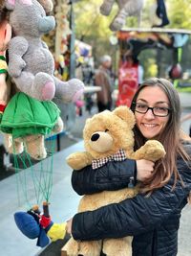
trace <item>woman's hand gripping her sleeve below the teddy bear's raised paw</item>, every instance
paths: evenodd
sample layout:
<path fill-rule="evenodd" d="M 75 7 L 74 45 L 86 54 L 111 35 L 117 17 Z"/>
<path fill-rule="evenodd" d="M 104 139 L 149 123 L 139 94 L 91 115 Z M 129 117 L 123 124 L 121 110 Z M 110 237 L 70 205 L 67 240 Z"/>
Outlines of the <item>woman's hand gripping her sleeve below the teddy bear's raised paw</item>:
<path fill-rule="evenodd" d="M 144 181 L 153 175 L 155 163 L 149 160 L 137 160 L 137 179 Z"/>

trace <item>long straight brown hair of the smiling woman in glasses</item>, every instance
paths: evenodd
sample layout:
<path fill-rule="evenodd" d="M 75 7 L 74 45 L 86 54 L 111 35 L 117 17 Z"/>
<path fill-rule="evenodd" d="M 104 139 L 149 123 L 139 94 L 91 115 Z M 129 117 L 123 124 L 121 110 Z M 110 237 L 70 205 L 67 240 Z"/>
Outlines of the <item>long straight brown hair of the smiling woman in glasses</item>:
<path fill-rule="evenodd" d="M 180 97 L 170 81 L 158 78 L 152 78 L 144 81 L 138 87 L 138 91 L 132 101 L 131 109 L 135 111 L 133 103 L 137 102 L 139 92 L 145 87 L 154 86 L 159 86 L 159 88 L 164 91 L 168 97 L 169 106 L 172 110 L 169 113 L 169 120 L 165 128 L 157 138 L 163 145 L 166 155 L 163 159 L 156 162 L 154 175 L 144 182 L 141 182 L 140 191 L 142 192 L 152 192 L 153 190 L 162 187 L 169 181 L 172 175 L 174 175 L 174 188 L 178 178 L 180 178 L 177 169 L 178 155 L 180 155 L 180 157 L 185 161 L 190 160 L 189 155 L 182 146 L 182 140 L 184 138 L 182 136 L 183 132 L 180 131 Z M 137 150 L 145 143 L 146 139 L 140 133 L 137 126 L 134 128 L 134 133 L 136 138 L 135 150 Z"/>

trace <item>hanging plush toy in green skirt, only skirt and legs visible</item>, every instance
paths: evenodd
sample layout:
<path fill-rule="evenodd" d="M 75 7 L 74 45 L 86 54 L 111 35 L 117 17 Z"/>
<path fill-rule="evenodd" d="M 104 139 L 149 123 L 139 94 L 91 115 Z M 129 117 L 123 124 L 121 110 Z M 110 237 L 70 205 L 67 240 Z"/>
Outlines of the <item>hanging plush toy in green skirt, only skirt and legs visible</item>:
<path fill-rule="evenodd" d="M 25 150 L 33 159 L 46 158 L 45 136 L 63 130 L 59 114 L 60 110 L 52 101 L 40 102 L 23 92 L 16 93 L 0 125 L 7 151 L 19 154 Z"/>

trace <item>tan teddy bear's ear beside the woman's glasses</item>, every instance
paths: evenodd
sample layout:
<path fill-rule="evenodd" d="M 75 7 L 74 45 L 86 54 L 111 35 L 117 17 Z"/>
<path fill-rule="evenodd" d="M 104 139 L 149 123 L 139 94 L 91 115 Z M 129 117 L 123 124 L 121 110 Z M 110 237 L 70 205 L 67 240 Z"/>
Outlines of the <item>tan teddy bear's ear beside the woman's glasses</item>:
<path fill-rule="evenodd" d="M 134 128 L 136 124 L 136 118 L 132 110 L 126 105 L 120 105 L 113 111 L 115 115 L 117 115 L 122 120 L 128 123 L 130 128 Z"/>

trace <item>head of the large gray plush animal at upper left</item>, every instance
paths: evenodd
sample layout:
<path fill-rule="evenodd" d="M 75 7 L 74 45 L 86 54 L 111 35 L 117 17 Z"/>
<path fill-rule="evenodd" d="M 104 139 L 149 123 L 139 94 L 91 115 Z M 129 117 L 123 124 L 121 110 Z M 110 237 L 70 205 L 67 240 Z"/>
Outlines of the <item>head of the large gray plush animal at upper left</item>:
<path fill-rule="evenodd" d="M 37 0 L 6 0 L 6 8 L 14 35 L 41 36 L 55 26 L 54 17 L 47 16 Z"/>

